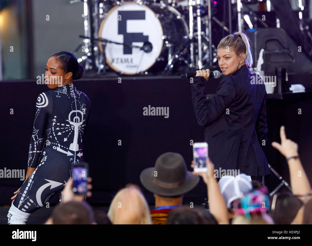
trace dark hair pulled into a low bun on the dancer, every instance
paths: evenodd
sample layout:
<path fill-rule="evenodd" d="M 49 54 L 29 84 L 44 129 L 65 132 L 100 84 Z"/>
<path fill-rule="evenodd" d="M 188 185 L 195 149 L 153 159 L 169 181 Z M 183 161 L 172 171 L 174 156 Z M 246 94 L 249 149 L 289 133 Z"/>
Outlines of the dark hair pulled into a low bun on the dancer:
<path fill-rule="evenodd" d="M 56 57 L 59 62 L 61 62 L 61 68 L 65 73 L 72 72 L 73 80 L 80 79 L 83 74 L 83 66 L 78 64 L 76 57 L 67 51 L 60 51 L 52 55 L 51 57 Z"/>

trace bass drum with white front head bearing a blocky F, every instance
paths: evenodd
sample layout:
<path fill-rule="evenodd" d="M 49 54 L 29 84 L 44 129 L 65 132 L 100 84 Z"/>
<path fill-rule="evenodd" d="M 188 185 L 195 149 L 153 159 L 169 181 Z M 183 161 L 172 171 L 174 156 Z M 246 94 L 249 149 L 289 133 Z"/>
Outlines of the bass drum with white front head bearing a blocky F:
<path fill-rule="evenodd" d="M 109 41 L 142 47 L 152 44 L 149 53 L 137 47 L 106 43 L 106 63 L 113 70 L 126 75 L 145 71 L 161 72 L 169 58 L 183 48 L 188 38 L 188 25 L 184 17 L 165 4 L 138 4 L 125 2 L 107 13 L 99 28 L 99 37 Z M 99 49 L 103 53 L 102 42 Z"/>

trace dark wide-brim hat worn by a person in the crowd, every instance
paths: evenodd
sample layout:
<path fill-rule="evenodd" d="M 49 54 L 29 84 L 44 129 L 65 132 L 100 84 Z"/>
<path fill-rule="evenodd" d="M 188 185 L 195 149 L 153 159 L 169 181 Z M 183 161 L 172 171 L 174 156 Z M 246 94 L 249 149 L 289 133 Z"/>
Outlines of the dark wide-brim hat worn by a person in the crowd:
<path fill-rule="evenodd" d="M 192 190 L 198 184 L 199 177 L 187 170 L 182 155 L 167 152 L 157 158 L 154 167 L 141 172 L 140 180 L 150 192 L 172 197 Z"/>

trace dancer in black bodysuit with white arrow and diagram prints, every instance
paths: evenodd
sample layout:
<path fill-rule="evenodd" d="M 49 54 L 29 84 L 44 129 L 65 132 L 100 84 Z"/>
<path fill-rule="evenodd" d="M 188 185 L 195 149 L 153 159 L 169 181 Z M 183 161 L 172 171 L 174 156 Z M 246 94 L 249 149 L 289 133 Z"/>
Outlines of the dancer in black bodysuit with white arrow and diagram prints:
<path fill-rule="evenodd" d="M 37 98 L 27 175 L 11 198 L 8 224 L 26 224 L 32 212 L 43 207 L 55 193 L 61 193 L 71 177 L 71 167 L 84 161 L 82 145 L 90 100 L 72 84 L 82 74 L 83 67 L 70 52 L 55 53 L 46 64 L 46 84 L 52 90 Z M 61 86 L 52 82 L 56 76 L 62 78 L 58 81 Z"/>

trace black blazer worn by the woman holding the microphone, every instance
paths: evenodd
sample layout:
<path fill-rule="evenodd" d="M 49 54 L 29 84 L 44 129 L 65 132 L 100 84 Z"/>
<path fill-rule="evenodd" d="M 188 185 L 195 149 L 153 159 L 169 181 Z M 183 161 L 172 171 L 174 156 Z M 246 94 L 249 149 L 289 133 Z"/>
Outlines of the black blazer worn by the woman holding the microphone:
<path fill-rule="evenodd" d="M 209 103 L 205 78 L 194 77 L 191 85 L 197 122 L 205 126 L 208 155 L 215 168 L 237 169 L 252 176 L 270 174 L 264 154 L 268 131 L 265 85 L 251 83 L 246 65 L 222 78 Z"/>

